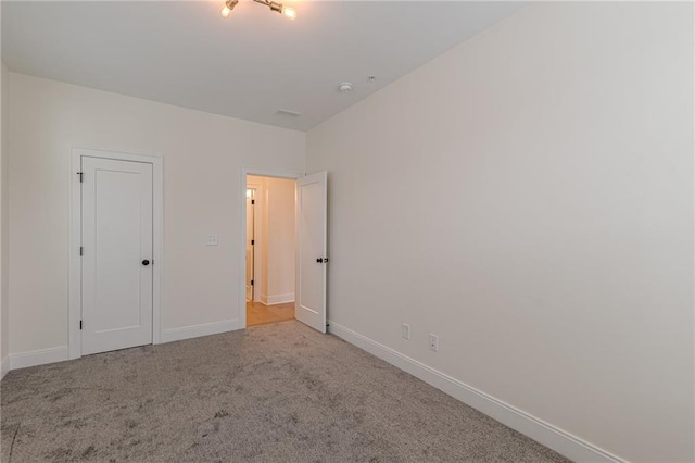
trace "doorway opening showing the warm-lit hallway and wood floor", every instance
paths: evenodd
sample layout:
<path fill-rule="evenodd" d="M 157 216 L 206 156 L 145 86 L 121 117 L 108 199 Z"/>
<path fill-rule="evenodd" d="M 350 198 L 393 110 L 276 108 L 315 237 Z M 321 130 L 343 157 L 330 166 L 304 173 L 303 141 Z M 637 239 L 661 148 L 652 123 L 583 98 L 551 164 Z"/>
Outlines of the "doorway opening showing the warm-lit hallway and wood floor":
<path fill-rule="evenodd" d="M 247 327 L 294 320 L 296 182 L 247 175 Z"/>

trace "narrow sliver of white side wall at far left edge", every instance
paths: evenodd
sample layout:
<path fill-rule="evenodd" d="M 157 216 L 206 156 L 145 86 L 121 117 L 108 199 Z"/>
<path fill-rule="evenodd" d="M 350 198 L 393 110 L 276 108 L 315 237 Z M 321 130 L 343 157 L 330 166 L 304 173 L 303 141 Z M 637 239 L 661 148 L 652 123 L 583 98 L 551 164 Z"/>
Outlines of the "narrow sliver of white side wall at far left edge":
<path fill-rule="evenodd" d="M 4 63 L 1 64 L 0 82 L 0 364 L 2 373 L 10 367 L 10 306 L 9 306 L 9 183 L 8 183 L 8 90 L 9 74 Z"/>

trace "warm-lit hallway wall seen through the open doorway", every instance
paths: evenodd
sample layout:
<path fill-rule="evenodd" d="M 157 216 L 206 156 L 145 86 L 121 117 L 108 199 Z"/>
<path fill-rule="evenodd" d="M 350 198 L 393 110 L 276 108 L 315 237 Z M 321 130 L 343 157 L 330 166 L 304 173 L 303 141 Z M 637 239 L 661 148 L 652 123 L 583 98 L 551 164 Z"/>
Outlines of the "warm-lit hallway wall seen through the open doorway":
<path fill-rule="evenodd" d="M 261 215 L 256 230 L 260 265 L 258 300 L 265 304 L 294 301 L 294 179 L 250 175 L 248 183 L 260 185 L 256 212 Z"/>

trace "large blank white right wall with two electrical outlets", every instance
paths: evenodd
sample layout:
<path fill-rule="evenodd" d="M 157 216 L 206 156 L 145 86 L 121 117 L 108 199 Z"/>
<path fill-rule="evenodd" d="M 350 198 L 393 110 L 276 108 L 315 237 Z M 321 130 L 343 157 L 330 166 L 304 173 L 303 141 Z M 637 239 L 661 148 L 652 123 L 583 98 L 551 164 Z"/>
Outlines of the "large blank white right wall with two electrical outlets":
<path fill-rule="evenodd" d="M 692 23 L 535 4 L 311 130 L 331 327 L 618 456 L 695 460 Z"/>

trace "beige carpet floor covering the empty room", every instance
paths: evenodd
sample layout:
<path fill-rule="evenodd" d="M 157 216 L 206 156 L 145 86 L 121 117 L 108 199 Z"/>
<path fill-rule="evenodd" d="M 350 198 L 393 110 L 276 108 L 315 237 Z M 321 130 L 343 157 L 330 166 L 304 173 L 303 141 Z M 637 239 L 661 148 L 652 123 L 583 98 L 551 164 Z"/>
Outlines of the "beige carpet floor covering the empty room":
<path fill-rule="evenodd" d="M 291 321 L 12 371 L 3 462 L 565 462 Z"/>

